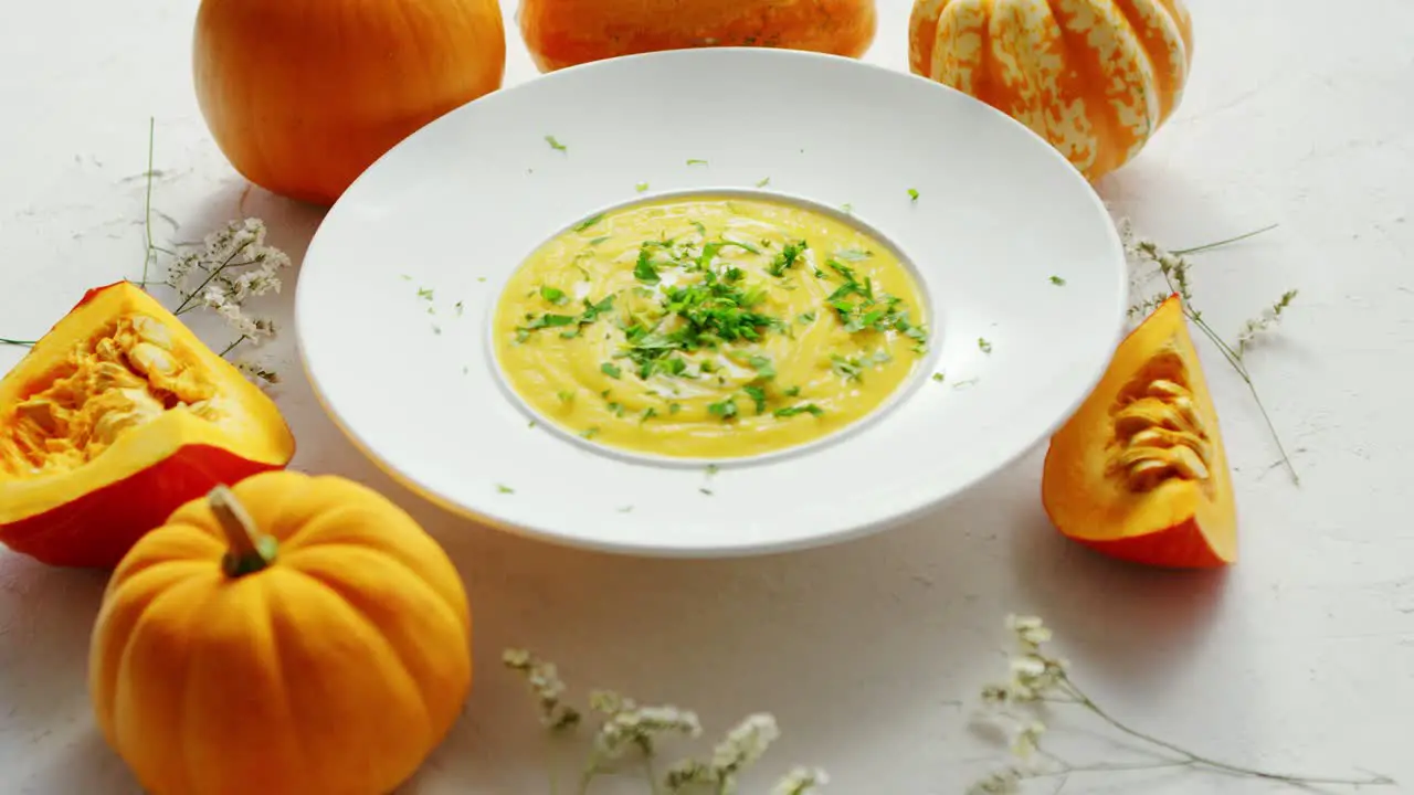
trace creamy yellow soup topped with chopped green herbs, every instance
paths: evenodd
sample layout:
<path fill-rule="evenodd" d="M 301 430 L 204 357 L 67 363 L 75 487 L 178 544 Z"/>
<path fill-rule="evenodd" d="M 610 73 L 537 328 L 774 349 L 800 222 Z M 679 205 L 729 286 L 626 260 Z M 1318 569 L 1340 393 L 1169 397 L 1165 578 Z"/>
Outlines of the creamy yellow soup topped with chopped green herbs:
<path fill-rule="evenodd" d="M 878 409 L 928 345 L 926 301 L 880 240 L 805 207 L 676 197 L 587 218 L 533 252 L 493 318 L 539 414 L 594 443 L 738 458 Z"/>

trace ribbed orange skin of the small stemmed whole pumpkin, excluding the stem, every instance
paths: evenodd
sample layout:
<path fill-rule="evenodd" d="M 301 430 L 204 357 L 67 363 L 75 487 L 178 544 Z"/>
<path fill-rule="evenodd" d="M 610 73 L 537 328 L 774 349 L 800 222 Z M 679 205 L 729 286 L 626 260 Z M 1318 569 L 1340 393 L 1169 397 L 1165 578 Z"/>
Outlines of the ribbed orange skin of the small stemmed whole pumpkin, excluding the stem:
<path fill-rule="evenodd" d="M 274 563 L 228 576 L 206 499 L 133 547 L 89 652 L 103 736 L 153 795 L 386 795 L 469 692 L 455 567 L 356 482 L 281 471 L 230 491 Z"/>

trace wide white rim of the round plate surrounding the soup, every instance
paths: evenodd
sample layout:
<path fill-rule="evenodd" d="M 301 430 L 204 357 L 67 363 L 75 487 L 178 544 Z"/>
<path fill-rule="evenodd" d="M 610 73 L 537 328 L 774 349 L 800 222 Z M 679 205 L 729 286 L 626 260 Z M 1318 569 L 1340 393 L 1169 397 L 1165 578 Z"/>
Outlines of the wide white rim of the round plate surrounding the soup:
<path fill-rule="evenodd" d="M 529 427 L 486 341 L 523 257 L 608 207 L 766 177 L 850 205 L 916 266 L 932 354 L 902 399 L 830 444 L 714 474 Z M 1103 204 L 1021 124 L 851 59 L 693 50 L 554 72 L 414 133 L 320 226 L 296 325 L 334 420 L 428 499 L 561 543 L 725 556 L 882 529 L 1024 454 L 1099 381 L 1126 303 Z"/>

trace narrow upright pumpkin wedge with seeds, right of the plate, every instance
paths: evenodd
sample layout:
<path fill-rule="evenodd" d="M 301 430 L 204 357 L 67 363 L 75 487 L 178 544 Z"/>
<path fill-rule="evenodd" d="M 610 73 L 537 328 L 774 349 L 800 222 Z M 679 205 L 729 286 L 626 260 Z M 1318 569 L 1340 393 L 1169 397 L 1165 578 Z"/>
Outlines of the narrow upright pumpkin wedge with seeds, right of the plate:
<path fill-rule="evenodd" d="M 1118 347 L 1051 439 L 1041 499 L 1065 536 L 1150 566 L 1237 559 L 1237 516 L 1217 412 L 1176 296 Z"/>

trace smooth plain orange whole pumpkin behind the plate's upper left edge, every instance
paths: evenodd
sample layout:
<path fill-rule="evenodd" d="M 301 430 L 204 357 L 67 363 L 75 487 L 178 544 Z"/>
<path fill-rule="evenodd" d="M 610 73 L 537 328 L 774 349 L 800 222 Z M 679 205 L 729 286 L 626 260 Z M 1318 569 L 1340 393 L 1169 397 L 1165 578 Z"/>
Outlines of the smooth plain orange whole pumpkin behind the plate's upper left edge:
<path fill-rule="evenodd" d="M 393 144 L 501 88 L 505 48 L 496 0 L 202 0 L 192 65 L 230 164 L 329 205 Z"/>

